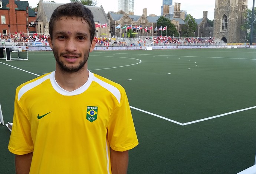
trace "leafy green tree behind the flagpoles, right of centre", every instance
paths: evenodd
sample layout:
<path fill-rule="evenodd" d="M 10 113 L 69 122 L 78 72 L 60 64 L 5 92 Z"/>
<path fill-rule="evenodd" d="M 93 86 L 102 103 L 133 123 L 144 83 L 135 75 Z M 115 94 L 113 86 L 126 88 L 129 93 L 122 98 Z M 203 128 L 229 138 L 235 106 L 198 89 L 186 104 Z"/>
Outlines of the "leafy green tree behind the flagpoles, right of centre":
<path fill-rule="evenodd" d="M 161 26 L 162 26 L 162 28 L 167 27 L 167 30 L 162 31 L 160 34 L 158 34 L 158 36 L 160 36 L 161 34 L 162 34 L 162 36 L 178 36 L 178 32 L 177 32 L 176 27 L 174 26 L 173 23 L 171 23 L 171 20 L 168 19 L 168 18 L 165 18 L 165 17 L 161 16 L 157 20 L 157 26 L 158 26 L 158 29 Z"/>

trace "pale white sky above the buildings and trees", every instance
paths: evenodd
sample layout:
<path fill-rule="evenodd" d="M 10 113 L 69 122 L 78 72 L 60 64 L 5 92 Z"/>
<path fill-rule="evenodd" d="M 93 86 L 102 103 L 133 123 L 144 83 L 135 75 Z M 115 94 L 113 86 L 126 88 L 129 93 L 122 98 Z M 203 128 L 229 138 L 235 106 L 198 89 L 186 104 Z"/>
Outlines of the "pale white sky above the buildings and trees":
<path fill-rule="evenodd" d="M 39 0 L 27 0 L 29 5 L 36 7 Z M 45 0 L 50 1 L 50 0 Z M 54 0 L 56 3 L 69 3 L 70 0 Z M 95 0 L 97 1 L 96 6 L 103 6 L 106 13 L 108 11 L 118 11 L 118 0 Z M 213 20 L 214 18 L 214 7 L 215 0 L 173 0 L 174 3 L 181 3 L 181 10 L 187 10 L 187 14 L 191 14 L 196 19 L 203 18 L 203 11 L 208 11 L 208 19 Z M 162 0 L 134 0 L 134 15 L 142 15 L 142 9 L 147 9 L 147 14 L 161 15 L 161 6 L 163 5 Z M 248 7 L 252 9 L 253 0 L 248 0 Z M 256 4 L 255 4 L 256 5 Z"/>

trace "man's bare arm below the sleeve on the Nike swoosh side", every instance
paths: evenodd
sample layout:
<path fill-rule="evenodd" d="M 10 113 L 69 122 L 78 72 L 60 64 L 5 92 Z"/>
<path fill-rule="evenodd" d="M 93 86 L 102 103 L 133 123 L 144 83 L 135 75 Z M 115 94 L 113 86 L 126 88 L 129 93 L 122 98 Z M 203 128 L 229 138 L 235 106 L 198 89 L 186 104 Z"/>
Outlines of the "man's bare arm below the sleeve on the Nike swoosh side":
<path fill-rule="evenodd" d="M 16 174 L 29 174 L 33 152 L 25 155 L 15 155 Z"/>

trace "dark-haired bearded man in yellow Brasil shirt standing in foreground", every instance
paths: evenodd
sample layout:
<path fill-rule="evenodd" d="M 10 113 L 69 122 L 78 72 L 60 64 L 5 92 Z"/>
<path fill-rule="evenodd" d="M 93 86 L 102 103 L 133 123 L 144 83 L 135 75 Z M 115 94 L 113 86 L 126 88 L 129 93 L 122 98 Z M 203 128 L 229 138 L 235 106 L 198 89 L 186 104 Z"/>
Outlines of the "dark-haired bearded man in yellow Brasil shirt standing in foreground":
<path fill-rule="evenodd" d="M 124 88 L 88 71 L 95 24 L 81 3 L 59 6 L 48 42 L 56 70 L 16 90 L 9 150 L 17 174 L 123 174 L 138 144 Z"/>

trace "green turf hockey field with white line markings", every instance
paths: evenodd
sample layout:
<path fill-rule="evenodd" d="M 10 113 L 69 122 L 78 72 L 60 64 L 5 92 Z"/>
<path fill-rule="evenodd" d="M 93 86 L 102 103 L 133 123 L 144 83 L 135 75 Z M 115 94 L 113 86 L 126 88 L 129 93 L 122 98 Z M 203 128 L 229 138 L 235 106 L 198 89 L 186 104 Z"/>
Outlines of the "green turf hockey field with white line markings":
<path fill-rule="evenodd" d="M 53 70 L 50 51 L 0 60 L 5 123 L 16 87 Z M 126 89 L 140 143 L 129 174 L 233 174 L 254 165 L 256 49 L 94 51 L 89 70 Z M 12 174 L 6 126 L 0 136 L 1 172 Z"/>

